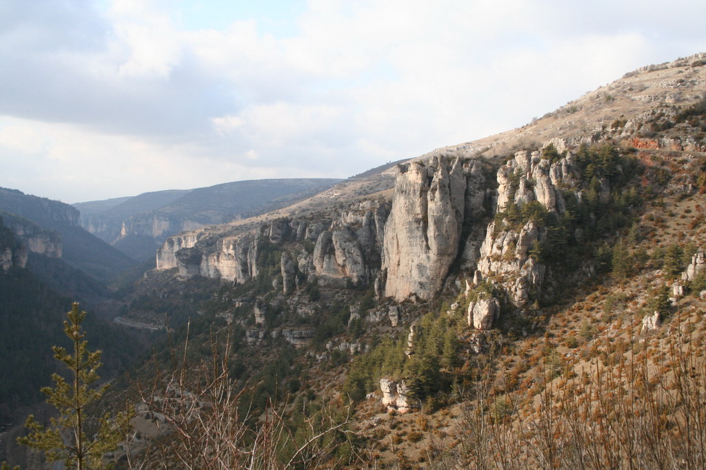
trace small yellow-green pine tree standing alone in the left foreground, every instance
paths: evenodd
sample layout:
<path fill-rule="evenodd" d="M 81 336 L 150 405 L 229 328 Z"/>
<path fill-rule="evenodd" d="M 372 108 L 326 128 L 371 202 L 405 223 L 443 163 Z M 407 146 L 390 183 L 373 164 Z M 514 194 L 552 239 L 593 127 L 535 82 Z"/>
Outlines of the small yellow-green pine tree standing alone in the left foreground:
<path fill-rule="evenodd" d="M 59 416 L 52 418 L 49 426 L 43 426 L 30 415 L 25 423 L 29 433 L 18 438 L 18 443 L 44 451 L 49 461 L 65 460 L 68 468 L 101 468 L 103 454 L 115 450 L 124 439 L 130 416 L 126 413 L 114 417 L 105 414 L 100 419 L 97 433 L 88 436 L 86 407 L 102 397 L 107 385 L 92 386 L 98 380 L 97 369 L 102 364 L 100 351 L 86 349 L 87 342 L 83 339 L 86 333 L 80 328 L 86 312 L 79 311 L 78 303 L 74 302 L 67 316 L 64 333 L 73 344 L 73 354 L 59 346 L 52 347 L 52 350 L 54 358 L 68 367 L 70 378 L 67 381 L 54 373 L 54 388 L 42 388 L 47 403 L 56 408 Z"/>

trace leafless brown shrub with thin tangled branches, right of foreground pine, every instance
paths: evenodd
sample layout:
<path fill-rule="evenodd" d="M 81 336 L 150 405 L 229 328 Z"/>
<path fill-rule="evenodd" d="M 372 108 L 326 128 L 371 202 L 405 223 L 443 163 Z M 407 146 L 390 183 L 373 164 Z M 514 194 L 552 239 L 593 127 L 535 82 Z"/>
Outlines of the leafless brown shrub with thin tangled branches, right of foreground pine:
<path fill-rule="evenodd" d="M 212 333 L 210 360 L 198 364 L 187 360 L 188 336 L 180 357 L 171 348 L 171 369 L 162 370 L 155 359 L 152 382 L 136 383 L 149 413 L 161 418 L 164 435 L 133 468 L 311 468 L 351 464 L 357 457 L 348 408 L 303 409 L 294 426 L 282 414 L 286 404 L 270 400 L 254 416 L 243 401 L 245 388 L 229 378 L 230 335 L 220 346 Z"/>

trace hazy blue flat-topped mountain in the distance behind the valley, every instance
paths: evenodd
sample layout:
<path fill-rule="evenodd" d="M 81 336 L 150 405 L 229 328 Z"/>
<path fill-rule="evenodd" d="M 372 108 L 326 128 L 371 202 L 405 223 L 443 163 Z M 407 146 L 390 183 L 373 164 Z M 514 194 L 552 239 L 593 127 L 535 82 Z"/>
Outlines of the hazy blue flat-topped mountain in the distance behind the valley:
<path fill-rule="evenodd" d="M 247 180 L 194 190 L 145 192 L 136 197 L 73 204 L 80 224 L 129 256 L 155 256 L 169 235 L 263 214 L 311 197 L 338 179 Z"/>

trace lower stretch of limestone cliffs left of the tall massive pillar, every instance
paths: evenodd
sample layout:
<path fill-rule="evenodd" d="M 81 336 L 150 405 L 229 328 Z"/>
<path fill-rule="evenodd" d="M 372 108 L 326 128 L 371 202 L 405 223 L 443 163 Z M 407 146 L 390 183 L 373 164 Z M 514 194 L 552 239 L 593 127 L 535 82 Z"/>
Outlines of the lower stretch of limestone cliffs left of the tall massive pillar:
<path fill-rule="evenodd" d="M 258 230 L 216 237 L 208 230 L 174 235 L 157 251 L 157 268 L 179 268 L 182 276 L 206 276 L 245 283 L 258 276 L 258 249 L 269 243 L 283 250 L 282 289 L 296 290 L 300 276 L 309 282 L 366 285 L 380 271 L 385 204 L 364 202 L 335 221 L 291 221 L 280 218 Z M 327 223 L 328 222 L 328 223 Z M 297 248 L 316 242 L 312 252 Z"/>

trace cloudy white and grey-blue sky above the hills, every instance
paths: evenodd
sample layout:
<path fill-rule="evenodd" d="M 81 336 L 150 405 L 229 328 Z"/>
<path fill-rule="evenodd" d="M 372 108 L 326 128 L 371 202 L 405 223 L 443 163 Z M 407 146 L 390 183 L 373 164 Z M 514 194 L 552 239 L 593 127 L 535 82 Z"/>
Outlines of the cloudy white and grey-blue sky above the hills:
<path fill-rule="evenodd" d="M 0 0 L 0 186 L 341 177 L 706 51 L 702 0 Z"/>

